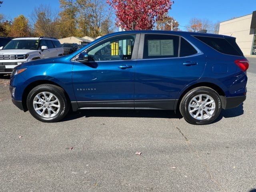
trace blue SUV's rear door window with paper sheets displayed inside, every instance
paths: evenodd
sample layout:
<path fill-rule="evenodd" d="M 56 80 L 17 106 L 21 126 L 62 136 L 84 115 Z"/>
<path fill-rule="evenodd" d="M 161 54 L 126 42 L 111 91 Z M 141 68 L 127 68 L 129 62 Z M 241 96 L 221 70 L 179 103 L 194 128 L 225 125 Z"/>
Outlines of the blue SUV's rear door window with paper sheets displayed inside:
<path fill-rule="evenodd" d="M 143 58 L 178 57 L 179 36 L 145 34 Z"/>

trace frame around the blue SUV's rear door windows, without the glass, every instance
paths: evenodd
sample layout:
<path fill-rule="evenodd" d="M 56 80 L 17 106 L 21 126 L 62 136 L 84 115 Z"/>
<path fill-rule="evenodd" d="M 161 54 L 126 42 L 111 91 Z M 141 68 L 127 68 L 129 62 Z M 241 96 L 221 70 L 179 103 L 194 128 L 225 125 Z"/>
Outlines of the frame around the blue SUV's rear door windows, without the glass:
<path fill-rule="evenodd" d="M 172 36 L 179 36 L 179 48 L 178 48 L 178 57 L 165 57 L 165 58 L 143 58 L 143 52 L 144 52 L 144 39 L 146 34 L 155 34 L 155 35 L 172 35 Z M 203 52 L 198 49 L 192 42 L 190 42 L 187 38 L 176 35 L 176 34 L 161 34 L 161 33 L 142 33 L 140 34 L 140 45 L 139 45 L 139 50 L 138 50 L 138 60 L 153 60 L 153 59 L 175 59 L 175 58 L 184 58 L 180 57 L 180 42 L 181 38 L 184 38 L 189 44 L 191 44 L 197 51 L 197 54 L 185 56 L 185 57 L 191 57 L 191 56 L 197 56 L 203 54 Z"/>

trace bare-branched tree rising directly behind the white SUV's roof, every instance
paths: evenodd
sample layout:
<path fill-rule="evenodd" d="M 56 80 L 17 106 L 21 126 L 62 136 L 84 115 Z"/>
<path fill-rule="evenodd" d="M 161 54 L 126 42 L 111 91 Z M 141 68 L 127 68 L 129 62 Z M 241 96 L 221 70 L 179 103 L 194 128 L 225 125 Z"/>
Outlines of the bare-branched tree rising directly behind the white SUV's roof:
<path fill-rule="evenodd" d="M 30 15 L 34 32 L 39 36 L 58 37 L 58 11 L 53 10 L 50 5 L 41 4 L 34 8 Z"/>

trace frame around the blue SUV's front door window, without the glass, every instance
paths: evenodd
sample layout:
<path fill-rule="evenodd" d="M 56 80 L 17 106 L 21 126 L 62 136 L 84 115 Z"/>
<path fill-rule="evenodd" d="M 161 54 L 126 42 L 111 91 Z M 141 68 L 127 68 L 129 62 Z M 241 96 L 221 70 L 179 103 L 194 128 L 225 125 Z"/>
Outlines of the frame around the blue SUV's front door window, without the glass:
<path fill-rule="evenodd" d="M 93 44 L 92 46 L 88 47 L 86 50 L 82 51 L 82 52 L 86 52 L 88 49 L 94 47 L 94 46 L 97 46 L 98 44 L 101 44 L 103 41 L 105 40 L 108 40 L 110 38 L 115 38 L 115 37 L 118 37 L 118 36 L 127 36 L 127 35 L 132 35 L 132 34 L 122 34 L 122 35 L 116 35 L 116 36 L 111 36 L 109 38 L 106 38 L 106 39 L 103 39 L 101 40 L 100 42 L 97 42 L 96 44 Z M 140 33 L 134 33 L 135 35 L 135 41 L 134 41 L 134 48 L 133 48 L 133 51 L 132 51 L 132 59 L 130 60 L 119 60 L 119 61 L 131 61 L 131 60 L 137 60 L 138 58 L 138 49 L 139 49 L 139 43 L 140 43 L 140 36 L 141 34 Z M 76 61 L 76 58 L 79 56 L 80 53 L 82 52 L 79 52 L 76 56 L 74 56 L 71 61 L 73 62 L 78 62 Z M 114 62 L 114 61 L 117 61 L 117 60 L 110 60 L 110 61 L 97 61 L 97 62 Z"/>

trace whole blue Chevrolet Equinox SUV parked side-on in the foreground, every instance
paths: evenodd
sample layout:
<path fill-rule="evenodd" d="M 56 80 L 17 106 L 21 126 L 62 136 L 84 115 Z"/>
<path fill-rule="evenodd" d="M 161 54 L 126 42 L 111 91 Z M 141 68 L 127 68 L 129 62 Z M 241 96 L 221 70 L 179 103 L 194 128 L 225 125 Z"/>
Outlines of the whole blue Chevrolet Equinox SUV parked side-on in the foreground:
<path fill-rule="evenodd" d="M 246 99 L 248 67 L 230 36 L 125 31 L 16 66 L 10 92 L 42 122 L 58 122 L 70 109 L 161 109 L 209 124 Z"/>

